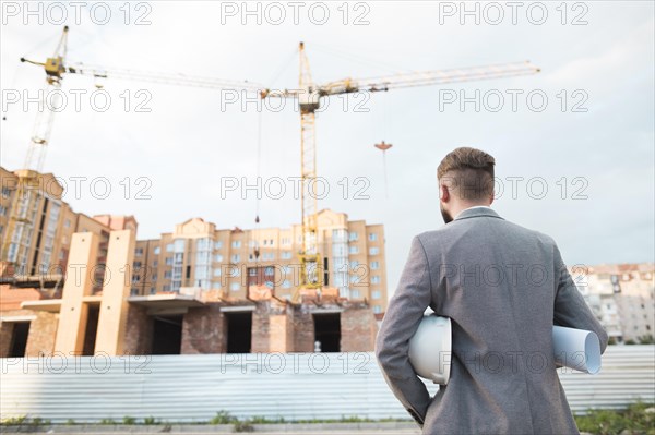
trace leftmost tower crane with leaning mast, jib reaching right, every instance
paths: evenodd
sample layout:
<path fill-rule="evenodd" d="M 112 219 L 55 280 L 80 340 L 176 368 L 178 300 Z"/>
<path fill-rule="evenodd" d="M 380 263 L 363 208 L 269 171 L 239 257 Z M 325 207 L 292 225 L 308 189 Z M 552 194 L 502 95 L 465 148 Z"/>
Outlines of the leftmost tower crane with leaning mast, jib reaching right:
<path fill-rule="evenodd" d="M 150 83 L 180 85 L 191 87 L 203 87 L 210 89 L 237 89 L 245 92 L 257 92 L 262 89 L 261 85 L 247 81 L 229 81 L 213 77 L 192 76 L 184 74 L 167 74 L 162 72 L 143 72 L 126 69 L 107 69 L 103 67 L 85 65 L 83 63 L 69 63 L 67 59 L 69 27 L 64 26 L 55 52 L 45 62 L 38 62 L 21 58 L 21 62 L 27 62 L 43 67 L 46 72 L 46 83 L 43 98 L 58 93 L 61 82 L 68 74 L 87 75 L 96 78 L 129 78 Z M 50 94 L 52 93 L 52 94 Z M 43 104 L 43 110 L 36 116 L 34 129 L 23 169 L 17 170 L 17 185 L 14 200 L 11 205 L 7 229 L 3 231 L 0 258 L 9 264 L 26 268 L 27 252 L 34 234 L 34 216 L 38 204 L 38 193 L 34 189 L 38 185 L 38 176 L 43 170 L 44 160 L 50 142 L 52 122 L 57 100 L 51 105 Z M 21 275 L 27 275 L 25 274 Z"/>

